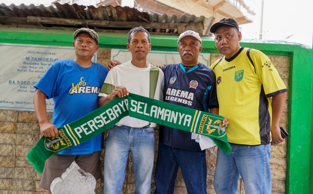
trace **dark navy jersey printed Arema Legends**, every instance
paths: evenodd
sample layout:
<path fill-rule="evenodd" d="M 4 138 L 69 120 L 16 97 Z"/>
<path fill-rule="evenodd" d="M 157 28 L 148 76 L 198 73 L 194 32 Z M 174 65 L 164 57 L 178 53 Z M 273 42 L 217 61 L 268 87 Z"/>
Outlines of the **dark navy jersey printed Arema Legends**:
<path fill-rule="evenodd" d="M 162 70 L 164 102 L 205 112 L 218 107 L 215 74 L 207 66 L 198 63 L 185 70 L 182 64 L 174 64 L 164 66 Z M 160 141 L 175 148 L 201 152 L 199 143 L 191 139 L 191 132 L 161 125 Z"/>

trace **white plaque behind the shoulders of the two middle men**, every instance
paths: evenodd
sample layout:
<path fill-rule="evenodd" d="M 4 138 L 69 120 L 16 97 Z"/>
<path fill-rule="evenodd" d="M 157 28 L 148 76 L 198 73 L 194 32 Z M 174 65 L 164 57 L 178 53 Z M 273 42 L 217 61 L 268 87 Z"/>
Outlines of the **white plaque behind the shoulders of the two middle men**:
<path fill-rule="evenodd" d="M 206 66 L 210 66 L 211 54 L 210 53 L 200 53 L 198 61 Z M 124 49 L 112 49 L 111 50 L 111 60 L 119 60 L 121 63 L 125 63 L 131 60 L 131 52 Z M 160 66 L 163 64 L 176 64 L 181 62 L 181 58 L 177 52 L 169 51 L 150 51 L 147 55 L 147 61 L 154 66 Z"/>

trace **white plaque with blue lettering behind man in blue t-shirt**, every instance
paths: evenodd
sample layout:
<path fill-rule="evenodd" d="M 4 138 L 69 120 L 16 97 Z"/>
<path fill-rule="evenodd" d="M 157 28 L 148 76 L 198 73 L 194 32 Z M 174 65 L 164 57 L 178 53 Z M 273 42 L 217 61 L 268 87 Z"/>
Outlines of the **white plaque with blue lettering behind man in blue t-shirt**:
<path fill-rule="evenodd" d="M 33 85 L 54 61 L 74 58 L 74 47 L 0 43 L 0 109 L 34 110 Z M 53 100 L 46 105 L 52 112 Z"/>

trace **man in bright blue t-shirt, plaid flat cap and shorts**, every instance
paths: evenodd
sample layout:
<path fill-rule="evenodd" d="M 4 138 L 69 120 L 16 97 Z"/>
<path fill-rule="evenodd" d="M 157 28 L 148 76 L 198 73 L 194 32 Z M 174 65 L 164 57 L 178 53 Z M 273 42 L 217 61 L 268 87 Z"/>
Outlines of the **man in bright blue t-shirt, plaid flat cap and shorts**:
<path fill-rule="evenodd" d="M 59 127 L 71 123 L 98 108 L 98 94 L 108 70 L 101 64 L 92 62 L 99 48 L 98 34 L 88 28 L 74 32 L 76 58 L 54 62 L 44 76 L 34 85 L 37 89 L 33 97 L 40 132 L 45 137 L 58 137 Z M 46 98 L 53 98 L 52 123 L 46 112 Z M 102 134 L 77 146 L 52 155 L 46 162 L 39 186 L 51 194 L 52 181 L 75 162 L 95 179 L 101 177 L 100 148 Z"/>

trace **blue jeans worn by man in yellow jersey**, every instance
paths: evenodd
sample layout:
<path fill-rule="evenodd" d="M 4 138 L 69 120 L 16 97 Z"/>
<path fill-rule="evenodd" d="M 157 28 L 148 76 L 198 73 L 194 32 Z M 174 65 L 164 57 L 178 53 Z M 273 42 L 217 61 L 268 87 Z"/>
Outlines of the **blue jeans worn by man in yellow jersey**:
<path fill-rule="evenodd" d="M 236 194 L 239 175 L 245 194 L 271 194 L 270 145 L 231 144 L 230 155 L 218 149 L 214 174 L 216 194 Z"/>

